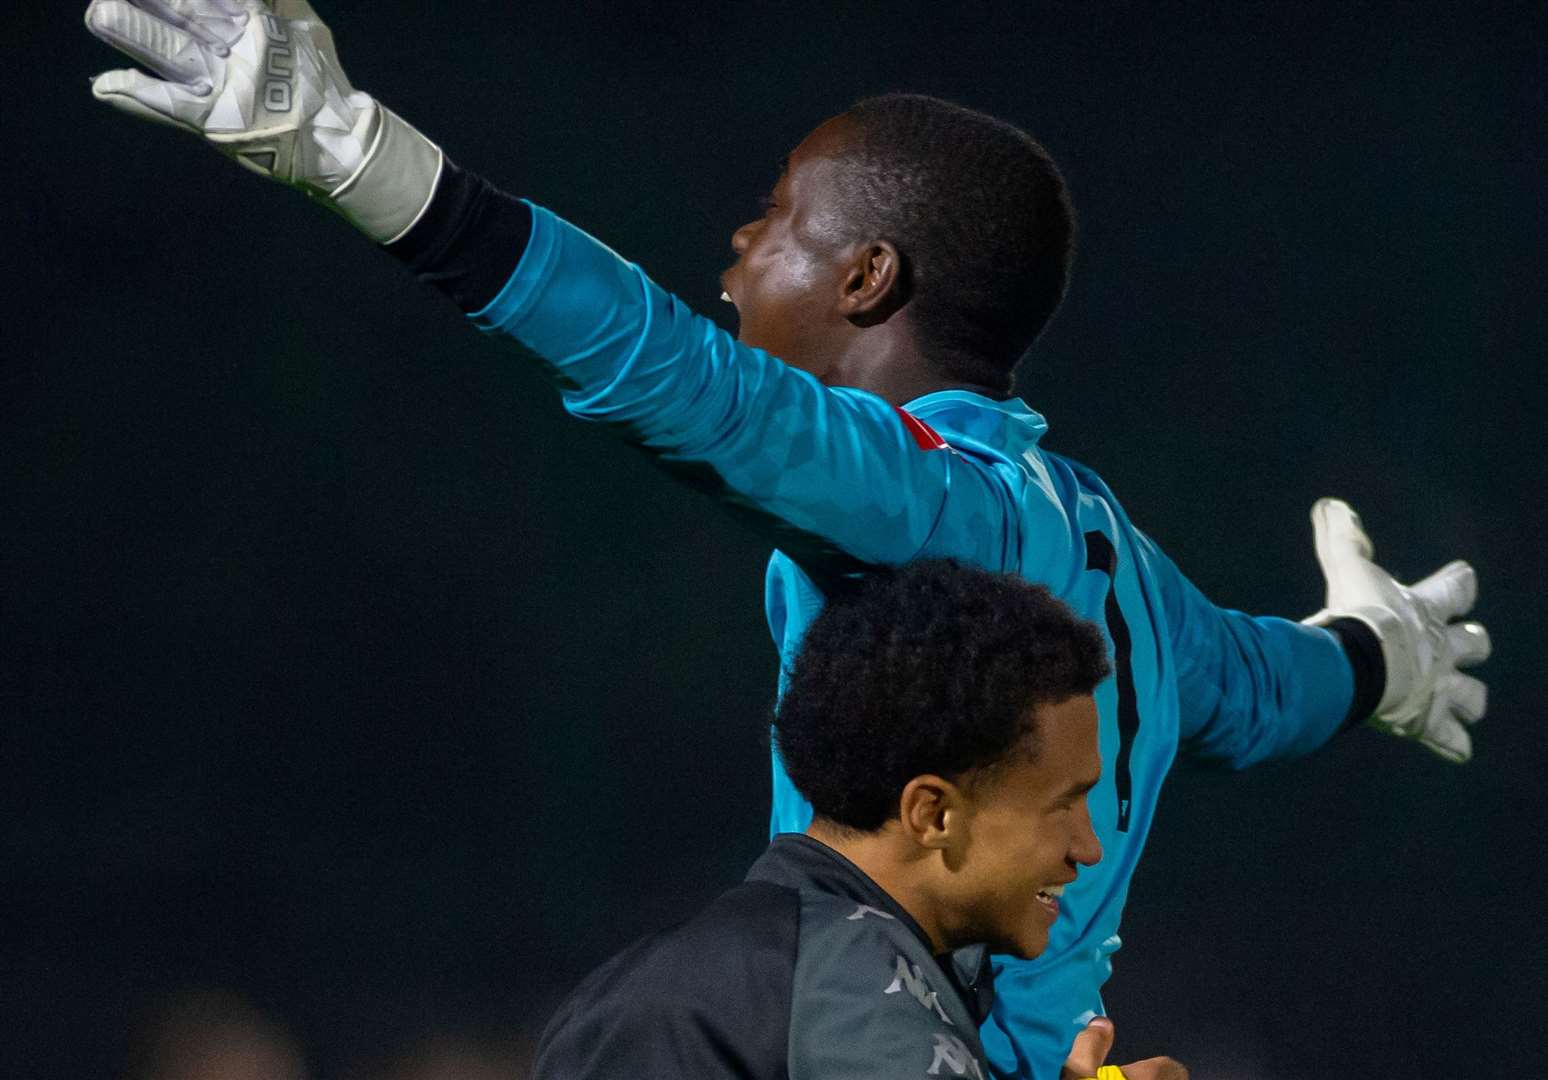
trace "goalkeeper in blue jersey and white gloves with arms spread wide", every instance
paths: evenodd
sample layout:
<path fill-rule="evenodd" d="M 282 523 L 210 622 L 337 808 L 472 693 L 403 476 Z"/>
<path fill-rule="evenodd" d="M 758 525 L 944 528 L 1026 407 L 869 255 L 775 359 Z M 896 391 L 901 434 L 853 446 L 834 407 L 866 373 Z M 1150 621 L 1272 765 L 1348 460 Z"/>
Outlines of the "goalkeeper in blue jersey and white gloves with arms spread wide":
<path fill-rule="evenodd" d="M 740 334 L 687 311 L 635 265 L 457 169 L 344 76 L 302 0 L 93 0 L 87 23 L 139 70 L 94 93 L 189 128 L 300 187 L 553 373 L 565 407 L 605 421 L 779 545 L 768 619 L 789 658 L 824 588 L 924 555 L 1045 583 L 1105 627 L 1096 695 L 1105 857 L 1060 899 L 1050 947 L 1005 961 L 985 1029 L 1005 1075 L 1054 1077 L 1102 1012 L 1119 914 L 1178 754 L 1246 767 L 1368 721 L 1450 761 L 1488 656 L 1458 622 L 1452 563 L 1404 586 L 1354 512 L 1313 508 L 1327 607 L 1303 622 L 1214 607 L 1090 469 L 1039 446 L 1011 396 L 1065 289 L 1073 212 L 1020 130 L 918 96 L 865 101 L 791 152 L 768 210 L 737 229 L 726 299 Z M 810 809 L 774 763 L 774 829 Z"/>

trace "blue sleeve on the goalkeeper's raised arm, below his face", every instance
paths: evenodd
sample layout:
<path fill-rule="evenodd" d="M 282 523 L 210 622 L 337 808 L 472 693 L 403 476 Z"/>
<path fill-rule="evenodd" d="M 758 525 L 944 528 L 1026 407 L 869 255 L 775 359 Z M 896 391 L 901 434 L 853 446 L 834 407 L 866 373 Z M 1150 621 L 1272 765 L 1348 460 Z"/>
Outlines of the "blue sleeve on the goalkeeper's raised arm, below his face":
<path fill-rule="evenodd" d="M 471 317 L 536 353 L 570 413 L 777 531 L 861 563 L 943 551 L 1009 568 L 1014 498 L 991 466 L 926 450 L 881 398 L 741 345 L 542 207 L 511 280 Z"/>

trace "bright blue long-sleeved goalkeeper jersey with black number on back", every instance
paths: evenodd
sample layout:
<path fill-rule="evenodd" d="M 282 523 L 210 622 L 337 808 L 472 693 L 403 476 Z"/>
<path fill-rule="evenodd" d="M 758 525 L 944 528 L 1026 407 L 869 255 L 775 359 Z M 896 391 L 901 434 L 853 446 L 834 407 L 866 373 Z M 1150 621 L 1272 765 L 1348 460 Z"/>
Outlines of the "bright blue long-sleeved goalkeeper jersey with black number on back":
<path fill-rule="evenodd" d="M 1020 401 L 947 390 L 896 408 L 825 387 L 536 206 L 520 265 L 472 319 L 531 350 L 573 415 L 619 427 L 768 528 L 782 548 L 766 579 L 782 682 L 822 607 L 820 568 L 961 559 L 1040 582 L 1105 628 L 1115 673 L 1096 692 L 1104 771 L 1090 797 L 1104 854 L 1065 891 L 1048 950 L 997 961 L 983 1040 L 1002 1075 L 1056 1080 L 1102 1012 L 1128 880 L 1178 750 L 1228 767 L 1296 757 L 1350 709 L 1333 634 L 1212 605 L 1096 473 L 1039 446 L 1043 418 Z M 776 757 L 772 831 L 810 820 Z"/>

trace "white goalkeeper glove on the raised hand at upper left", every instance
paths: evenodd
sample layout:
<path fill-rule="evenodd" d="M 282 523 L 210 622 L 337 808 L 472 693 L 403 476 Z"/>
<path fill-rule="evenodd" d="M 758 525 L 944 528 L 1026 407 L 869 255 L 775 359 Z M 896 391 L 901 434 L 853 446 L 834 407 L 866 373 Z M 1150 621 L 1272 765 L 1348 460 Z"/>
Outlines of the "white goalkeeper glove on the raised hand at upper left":
<path fill-rule="evenodd" d="M 350 87 L 307 0 L 91 0 L 87 28 L 158 76 L 107 71 L 96 97 L 204 136 L 378 243 L 407 232 L 435 193 L 440 147 Z"/>

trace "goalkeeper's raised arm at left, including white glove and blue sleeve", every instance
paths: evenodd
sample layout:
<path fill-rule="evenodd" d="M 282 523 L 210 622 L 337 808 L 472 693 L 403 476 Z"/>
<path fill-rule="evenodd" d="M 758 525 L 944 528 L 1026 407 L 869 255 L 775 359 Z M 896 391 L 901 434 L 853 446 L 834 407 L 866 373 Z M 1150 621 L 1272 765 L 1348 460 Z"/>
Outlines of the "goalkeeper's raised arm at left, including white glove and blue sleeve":
<path fill-rule="evenodd" d="M 93 0 L 87 25 L 159 76 L 110 71 L 99 97 L 330 204 L 534 353 L 571 413 L 622 429 L 786 549 L 898 563 L 949 537 L 943 554 L 1008 568 L 1017 517 L 991 466 L 875 395 L 738 343 L 574 226 L 480 187 L 353 90 L 305 0 Z M 460 261 L 471 234 L 478 251 Z M 480 296 L 489 266 L 509 280 Z"/>

